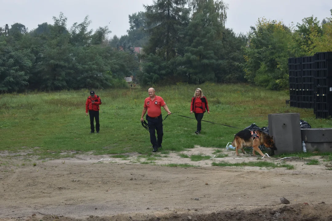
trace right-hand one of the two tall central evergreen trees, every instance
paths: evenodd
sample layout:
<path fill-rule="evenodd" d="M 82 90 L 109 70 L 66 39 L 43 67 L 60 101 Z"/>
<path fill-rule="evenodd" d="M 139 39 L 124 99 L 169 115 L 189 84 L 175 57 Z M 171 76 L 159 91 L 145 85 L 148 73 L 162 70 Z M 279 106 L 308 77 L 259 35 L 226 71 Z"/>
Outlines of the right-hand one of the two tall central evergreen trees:
<path fill-rule="evenodd" d="M 215 70 L 222 64 L 218 51 L 222 48 L 224 30 L 224 8 L 222 1 L 199 1 L 194 8 L 192 20 L 181 32 L 184 36 L 179 47 L 184 48 L 184 56 L 177 57 L 180 74 L 188 77 L 189 83 L 202 83 L 215 80 Z"/>

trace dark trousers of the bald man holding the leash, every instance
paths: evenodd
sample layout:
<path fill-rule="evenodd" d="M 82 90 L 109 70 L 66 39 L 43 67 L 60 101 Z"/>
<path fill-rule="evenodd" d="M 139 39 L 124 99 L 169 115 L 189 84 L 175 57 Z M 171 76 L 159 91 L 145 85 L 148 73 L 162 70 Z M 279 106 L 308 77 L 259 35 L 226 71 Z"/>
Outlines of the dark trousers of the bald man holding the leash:
<path fill-rule="evenodd" d="M 163 118 L 160 115 L 158 118 L 152 118 L 146 115 L 147 126 L 150 132 L 150 142 L 153 148 L 161 147 L 163 142 Z M 157 131 L 157 138 L 156 138 Z"/>

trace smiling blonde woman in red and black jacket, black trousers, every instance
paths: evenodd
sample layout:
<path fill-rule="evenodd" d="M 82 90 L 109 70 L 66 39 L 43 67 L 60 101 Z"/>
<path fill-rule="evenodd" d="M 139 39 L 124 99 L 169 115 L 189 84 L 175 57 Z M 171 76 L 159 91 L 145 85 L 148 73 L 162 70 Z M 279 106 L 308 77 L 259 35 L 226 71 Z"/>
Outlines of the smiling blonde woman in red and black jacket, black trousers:
<path fill-rule="evenodd" d="M 197 88 L 190 104 L 190 113 L 195 113 L 195 118 L 197 120 L 197 131 L 195 134 L 201 133 L 201 122 L 206 111 L 208 114 L 210 113 L 207 105 L 207 98 L 203 95 L 202 89 Z"/>

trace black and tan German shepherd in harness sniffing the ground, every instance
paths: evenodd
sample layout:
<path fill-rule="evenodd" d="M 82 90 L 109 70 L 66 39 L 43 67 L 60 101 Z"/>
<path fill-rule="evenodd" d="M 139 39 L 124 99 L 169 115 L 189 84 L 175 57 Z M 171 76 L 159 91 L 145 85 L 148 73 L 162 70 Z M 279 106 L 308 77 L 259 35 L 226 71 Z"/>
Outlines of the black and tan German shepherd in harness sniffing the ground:
<path fill-rule="evenodd" d="M 235 134 L 232 146 L 235 146 L 236 155 L 239 156 L 238 150 L 241 149 L 243 154 L 246 154 L 243 147 L 253 147 L 252 154 L 256 156 L 255 151 L 264 156 L 262 151 L 258 148 L 264 144 L 265 147 L 270 147 L 272 150 L 277 148 L 274 145 L 273 136 L 265 134 L 262 131 L 243 130 Z"/>

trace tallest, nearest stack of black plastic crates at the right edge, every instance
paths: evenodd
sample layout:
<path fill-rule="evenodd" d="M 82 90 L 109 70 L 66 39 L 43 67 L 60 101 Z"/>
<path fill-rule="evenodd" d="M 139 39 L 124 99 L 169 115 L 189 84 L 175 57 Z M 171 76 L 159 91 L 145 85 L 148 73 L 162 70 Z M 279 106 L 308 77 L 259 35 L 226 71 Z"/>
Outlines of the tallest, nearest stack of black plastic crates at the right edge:
<path fill-rule="evenodd" d="M 315 61 L 315 107 L 316 118 L 332 116 L 332 52 L 319 52 Z"/>

